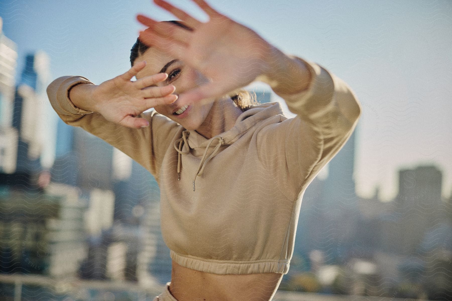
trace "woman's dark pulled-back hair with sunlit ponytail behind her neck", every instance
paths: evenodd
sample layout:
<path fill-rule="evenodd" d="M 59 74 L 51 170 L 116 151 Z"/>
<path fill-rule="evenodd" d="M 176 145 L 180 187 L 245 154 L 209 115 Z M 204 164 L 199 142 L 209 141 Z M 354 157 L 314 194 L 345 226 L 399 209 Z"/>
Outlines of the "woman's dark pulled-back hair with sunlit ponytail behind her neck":
<path fill-rule="evenodd" d="M 193 31 L 193 28 L 188 27 L 182 21 L 172 20 L 161 22 L 171 22 L 189 31 Z M 132 49 L 130 50 L 130 65 L 133 66 L 133 63 L 135 62 L 137 57 L 145 53 L 145 51 L 149 48 L 150 46 L 147 46 L 145 43 L 141 42 L 140 38 L 137 38 L 137 42 L 133 44 Z M 235 105 L 242 111 L 250 109 L 250 107 L 253 105 L 259 105 L 259 102 L 256 101 L 256 93 L 253 93 L 253 95 L 251 95 L 250 92 L 245 89 L 239 90 L 235 95 L 231 96 L 231 99 L 235 103 Z"/>

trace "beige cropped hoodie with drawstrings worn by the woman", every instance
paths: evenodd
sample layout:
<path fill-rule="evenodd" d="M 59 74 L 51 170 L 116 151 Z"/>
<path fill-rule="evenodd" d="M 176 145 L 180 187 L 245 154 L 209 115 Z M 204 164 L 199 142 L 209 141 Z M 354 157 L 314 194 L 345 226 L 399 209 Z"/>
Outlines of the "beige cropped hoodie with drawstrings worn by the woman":
<path fill-rule="evenodd" d="M 91 83 L 81 76 L 55 79 L 52 107 L 126 153 L 160 186 L 161 230 L 170 257 L 207 273 L 282 273 L 289 270 L 301 199 L 307 185 L 352 134 L 361 106 L 349 86 L 320 65 L 301 93 L 243 112 L 228 131 L 206 139 L 156 111 L 141 113 L 150 126 L 132 129 L 74 106 L 69 89 Z"/>

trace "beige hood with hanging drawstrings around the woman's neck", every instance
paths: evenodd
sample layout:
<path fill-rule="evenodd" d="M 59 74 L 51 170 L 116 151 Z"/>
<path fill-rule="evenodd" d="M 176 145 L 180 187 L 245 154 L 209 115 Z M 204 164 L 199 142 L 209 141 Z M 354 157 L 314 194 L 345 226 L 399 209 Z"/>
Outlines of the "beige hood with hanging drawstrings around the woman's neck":
<path fill-rule="evenodd" d="M 257 106 L 251 106 L 250 109 L 240 114 L 235 121 L 234 126 L 211 139 L 206 139 L 196 130 L 184 130 L 182 137 L 174 141 L 174 149 L 179 153 L 178 155 L 178 180 L 180 180 L 180 169 L 182 165 L 181 156 L 190 153 L 193 148 L 204 148 L 204 154 L 201 157 L 198 170 L 193 177 L 193 191 L 195 191 L 195 180 L 197 176 L 201 176 L 202 171 L 207 165 L 207 162 L 214 157 L 222 145 L 230 145 L 240 139 L 248 130 L 254 126 L 259 126 L 259 123 L 276 115 L 283 115 L 282 107 L 279 102 L 268 102 Z M 277 119 L 279 122 L 279 118 Z M 214 147 L 208 157 L 209 148 Z"/>

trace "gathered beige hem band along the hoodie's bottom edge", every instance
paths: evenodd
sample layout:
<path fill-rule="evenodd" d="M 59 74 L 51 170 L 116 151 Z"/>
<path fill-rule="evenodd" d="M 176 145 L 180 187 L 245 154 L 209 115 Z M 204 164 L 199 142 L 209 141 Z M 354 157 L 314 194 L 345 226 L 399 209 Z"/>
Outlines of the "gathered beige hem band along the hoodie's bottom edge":
<path fill-rule="evenodd" d="M 258 273 L 287 274 L 290 265 L 290 260 L 287 259 L 261 259 L 252 261 L 208 260 L 195 256 L 180 255 L 173 250 L 170 250 L 170 257 L 177 264 L 188 269 L 219 275 Z"/>

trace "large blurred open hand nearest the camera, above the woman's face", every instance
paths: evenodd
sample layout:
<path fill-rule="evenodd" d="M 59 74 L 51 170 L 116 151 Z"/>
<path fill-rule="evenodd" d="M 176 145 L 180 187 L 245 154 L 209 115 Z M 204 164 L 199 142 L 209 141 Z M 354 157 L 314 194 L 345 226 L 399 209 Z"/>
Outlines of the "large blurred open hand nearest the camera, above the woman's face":
<path fill-rule="evenodd" d="M 193 0 L 209 16 L 207 23 L 163 0 L 154 2 L 184 21 L 193 31 L 139 14 L 137 20 L 149 27 L 140 32 L 140 40 L 183 60 L 210 80 L 180 94 L 179 102 L 187 104 L 224 96 L 245 87 L 270 69 L 268 58 L 275 48 L 250 28 L 212 9 L 205 1 Z"/>

